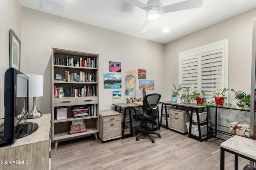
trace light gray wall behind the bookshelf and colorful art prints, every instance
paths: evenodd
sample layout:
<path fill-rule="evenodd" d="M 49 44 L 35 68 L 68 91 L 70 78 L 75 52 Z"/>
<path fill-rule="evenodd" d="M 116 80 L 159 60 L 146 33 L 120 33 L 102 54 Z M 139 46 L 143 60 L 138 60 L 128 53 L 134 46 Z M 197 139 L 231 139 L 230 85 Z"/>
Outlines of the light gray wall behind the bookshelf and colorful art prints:
<path fill-rule="evenodd" d="M 113 103 L 126 102 L 124 95 L 125 69 L 137 70 L 136 97 L 142 97 L 138 86 L 138 69 L 147 70 L 147 79 L 155 81 L 155 90 L 161 93 L 164 77 L 164 45 L 132 37 L 108 29 L 61 18 L 22 7 L 22 54 L 21 67 L 27 74 L 44 75 L 44 96 L 37 99 L 37 108 L 51 112 L 51 48 L 69 49 L 99 54 L 100 60 L 100 110 L 110 109 Z M 108 62 L 122 63 L 122 98 L 112 99 L 112 91 L 104 89 L 103 73 L 109 73 Z"/>

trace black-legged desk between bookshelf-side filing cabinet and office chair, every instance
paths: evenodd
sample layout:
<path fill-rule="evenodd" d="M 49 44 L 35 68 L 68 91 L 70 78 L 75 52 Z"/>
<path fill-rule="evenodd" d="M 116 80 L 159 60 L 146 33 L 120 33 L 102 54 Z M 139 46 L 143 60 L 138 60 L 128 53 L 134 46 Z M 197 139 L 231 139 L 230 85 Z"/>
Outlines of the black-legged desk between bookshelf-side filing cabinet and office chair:
<path fill-rule="evenodd" d="M 117 111 L 117 107 L 119 107 L 120 113 L 121 113 L 121 109 L 122 109 L 122 108 L 124 109 L 124 121 L 123 121 L 123 125 L 122 125 L 122 138 L 121 138 L 121 139 L 124 139 L 125 137 L 130 137 L 130 136 L 133 137 L 131 108 L 132 108 L 132 107 L 142 107 L 142 104 L 118 103 L 118 104 L 113 104 L 113 105 L 115 106 L 115 111 Z M 124 136 L 126 109 L 129 109 L 129 118 L 130 118 L 130 129 L 131 129 L 131 133 Z"/>

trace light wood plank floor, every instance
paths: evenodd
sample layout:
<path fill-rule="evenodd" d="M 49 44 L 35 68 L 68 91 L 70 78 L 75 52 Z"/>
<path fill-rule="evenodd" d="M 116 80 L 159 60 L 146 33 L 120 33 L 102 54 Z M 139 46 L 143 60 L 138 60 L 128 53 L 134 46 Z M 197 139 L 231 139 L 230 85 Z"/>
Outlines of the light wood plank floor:
<path fill-rule="evenodd" d="M 200 142 L 164 129 L 161 138 L 117 139 L 108 142 L 93 136 L 52 144 L 52 170 L 219 170 L 220 139 Z M 248 160 L 239 157 L 239 170 Z M 225 168 L 234 169 L 234 155 L 225 152 Z"/>

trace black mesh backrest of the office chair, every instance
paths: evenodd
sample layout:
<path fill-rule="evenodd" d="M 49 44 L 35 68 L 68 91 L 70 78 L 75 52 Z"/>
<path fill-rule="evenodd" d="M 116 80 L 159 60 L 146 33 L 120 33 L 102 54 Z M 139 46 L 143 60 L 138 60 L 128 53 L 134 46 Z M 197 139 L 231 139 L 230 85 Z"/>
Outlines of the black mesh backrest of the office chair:
<path fill-rule="evenodd" d="M 158 118 L 158 104 L 161 98 L 161 94 L 153 93 L 153 94 L 147 94 L 143 98 L 143 116 L 146 119 L 150 119 L 152 121 L 155 121 Z"/>

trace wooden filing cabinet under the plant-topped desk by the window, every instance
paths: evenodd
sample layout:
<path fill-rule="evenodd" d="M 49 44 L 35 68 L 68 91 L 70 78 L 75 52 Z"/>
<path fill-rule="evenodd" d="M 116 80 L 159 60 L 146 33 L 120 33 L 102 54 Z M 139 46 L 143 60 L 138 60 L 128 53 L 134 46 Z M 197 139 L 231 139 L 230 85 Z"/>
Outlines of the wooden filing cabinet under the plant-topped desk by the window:
<path fill-rule="evenodd" d="M 170 129 L 187 133 L 188 129 L 186 126 L 186 122 L 189 122 L 189 113 L 188 109 L 170 109 Z"/>

